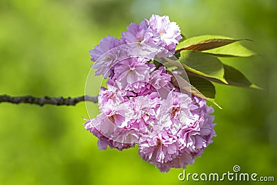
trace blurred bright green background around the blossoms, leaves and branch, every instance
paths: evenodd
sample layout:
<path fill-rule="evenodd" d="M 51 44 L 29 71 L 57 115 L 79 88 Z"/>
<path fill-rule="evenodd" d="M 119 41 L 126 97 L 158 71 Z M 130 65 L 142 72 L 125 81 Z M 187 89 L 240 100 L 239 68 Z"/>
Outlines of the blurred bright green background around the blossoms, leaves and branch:
<path fill-rule="evenodd" d="M 0 1 L 0 94 L 81 96 L 88 51 L 132 21 L 169 15 L 187 37 L 226 35 L 265 56 L 227 58 L 264 91 L 217 85 L 217 137 L 186 173 L 244 173 L 277 181 L 277 1 Z M 100 77 L 91 95 L 98 94 Z M 90 105 L 98 114 L 98 105 Z M 214 184 L 180 182 L 183 170 L 160 173 L 138 148 L 98 150 L 75 107 L 0 104 L 0 184 Z M 227 182 L 235 184 L 238 182 Z M 253 182 L 244 182 L 252 184 Z M 257 182 L 256 182 L 257 183 Z M 242 183 L 240 183 L 242 184 Z M 274 183 L 268 183 L 274 184 Z"/>

